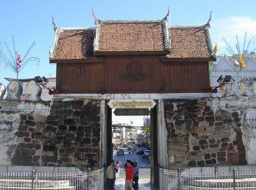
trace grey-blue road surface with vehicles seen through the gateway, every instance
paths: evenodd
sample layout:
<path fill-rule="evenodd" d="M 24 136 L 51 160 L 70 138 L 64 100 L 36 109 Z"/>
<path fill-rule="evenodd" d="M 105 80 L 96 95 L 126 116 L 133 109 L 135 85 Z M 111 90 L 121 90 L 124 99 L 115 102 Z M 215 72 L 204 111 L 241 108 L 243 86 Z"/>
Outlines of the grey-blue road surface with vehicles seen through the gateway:
<path fill-rule="evenodd" d="M 149 159 L 143 159 L 142 158 L 142 154 L 136 154 L 136 151 L 134 151 L 134 153 L 129 154 L 127 149 L 124 149 L 124 155 L 117 156 L 116 151 L 113 153 L 113 158 L 115 161 L 115 164 L 117 163 L 117 161 L 120 161 L 122 163 L 121 168 L 124 167 L 124 164 L 126 163 L 126 160 L 131 160 L 132 162 L 134 161 L 138 161 L 139 164 L 139 168 L 150 168 L 150 163 L 149 163 Z"/>

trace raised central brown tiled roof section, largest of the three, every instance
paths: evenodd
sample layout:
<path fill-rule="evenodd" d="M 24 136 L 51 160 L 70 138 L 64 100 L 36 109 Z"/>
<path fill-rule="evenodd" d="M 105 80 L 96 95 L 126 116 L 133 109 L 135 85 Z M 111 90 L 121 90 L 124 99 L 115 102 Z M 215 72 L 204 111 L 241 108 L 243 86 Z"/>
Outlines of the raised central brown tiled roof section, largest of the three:
<path fill-rule="evenodd" d="M 103 23 L 100 26 L 98 51 L 165 51 L 162 23 Z"/>

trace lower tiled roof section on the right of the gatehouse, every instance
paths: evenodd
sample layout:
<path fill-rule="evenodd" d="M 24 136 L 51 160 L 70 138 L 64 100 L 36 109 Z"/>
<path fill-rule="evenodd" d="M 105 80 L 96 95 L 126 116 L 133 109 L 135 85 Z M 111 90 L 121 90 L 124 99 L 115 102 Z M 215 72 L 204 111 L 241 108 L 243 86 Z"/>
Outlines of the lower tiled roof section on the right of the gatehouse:
<path fill-rule="evenodd" d="M 211 41 L 208 29 L 200 27 L 169 27 L 171 52 L 167 58 L 210 58 Z"/>

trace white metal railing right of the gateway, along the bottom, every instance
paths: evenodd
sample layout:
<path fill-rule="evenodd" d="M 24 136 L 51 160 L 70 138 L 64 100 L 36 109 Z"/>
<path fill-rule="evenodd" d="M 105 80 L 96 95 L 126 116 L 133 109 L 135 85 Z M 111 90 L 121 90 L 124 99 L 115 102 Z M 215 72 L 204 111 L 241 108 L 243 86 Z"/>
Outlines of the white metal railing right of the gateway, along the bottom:
<path fill-rule="evenodd" d="M 161 190 L 256 190 L 256 172 L 203 173 L 159 168 Z"/>

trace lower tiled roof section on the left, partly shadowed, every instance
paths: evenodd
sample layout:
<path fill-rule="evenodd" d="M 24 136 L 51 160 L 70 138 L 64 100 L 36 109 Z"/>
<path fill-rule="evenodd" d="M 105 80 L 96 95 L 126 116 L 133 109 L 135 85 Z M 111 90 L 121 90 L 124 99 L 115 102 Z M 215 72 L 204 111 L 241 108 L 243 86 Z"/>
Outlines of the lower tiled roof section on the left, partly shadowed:
<path fill-rule="evenodd" d="M 57 31 L 54 60 L 78 60 L 94 58 L 93 42 L 95 29 Z"/>

